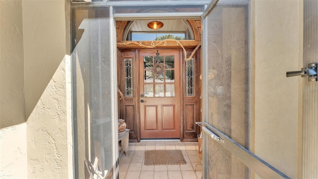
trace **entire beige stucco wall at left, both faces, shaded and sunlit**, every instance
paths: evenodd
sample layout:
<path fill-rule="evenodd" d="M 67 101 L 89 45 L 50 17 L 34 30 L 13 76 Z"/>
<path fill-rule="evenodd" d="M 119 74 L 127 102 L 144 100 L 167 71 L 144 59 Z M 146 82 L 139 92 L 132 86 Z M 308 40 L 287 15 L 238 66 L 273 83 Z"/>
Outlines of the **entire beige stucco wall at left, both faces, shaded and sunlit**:
<path fill-rule="evenodd" d="M 0 1 L 1 179 L 73 178 L 69 3 Z"/>

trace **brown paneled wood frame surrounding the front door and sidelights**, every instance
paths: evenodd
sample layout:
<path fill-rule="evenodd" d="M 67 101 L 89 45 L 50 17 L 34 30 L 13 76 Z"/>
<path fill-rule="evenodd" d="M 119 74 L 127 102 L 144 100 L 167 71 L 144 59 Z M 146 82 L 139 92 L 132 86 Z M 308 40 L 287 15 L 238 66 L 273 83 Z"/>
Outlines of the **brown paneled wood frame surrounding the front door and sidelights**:
<path fill-rule="evenodd" d="M 196 43 L 196 42 L 194 42 Z M 129 46 L 129 45 L 128 45 Z M 187 51 L 187 57 L 190 56 L 193 46 L 186 47 Z M 124 84 L 124 79 L 121 74 L 123 74 L 123 62 L 122 60 L 124 58 L 133 58 L 135 59 L 134 61 L 134 66 L 139 67 L 139 51 L 151 51 L 154 49 L 146 49 L 146 48 L 118 48 L 117 49 L 117 72 L 118 72 L 118 88 L 124 93 L 125 90 L 125 84 Z M 180 63 L 179 63 L 179 76 L 180 76 L 180 110 L 179 110 L 179 117 L 180 117 L 180 141 L 197 141 L 196 135 L 200 133 L 200 128 L 195 124 L 196 121 L 201 121 L 201 99 L 200 99 L 200 91 L 201 91 L 201 81 L 200 81 L 200 73 L 201 73 L 201 59 L 200 59 L 200 49 L 196 52 L 194 55 L 195 61 L 196 61 L 196 72 L 195 72 L 195 79 L 196 79 L 196 90 L 195 90 L 195 96 L 194 100 L 188 100 L 189 97 L 185 96 L 185 62 L 184 62 L 184 55 L 183 55 L 183 50 L 180 48 L 173 48 L 173 47 L 166 47 L 166 48 L 158 48 L 159 51 L 164 51 L 164 50 L 179 50 L 179 58 L 180 58 Z M 129 55 L 124 55 L 124 53 L 128 53 Z M 136 71 L 136 70 L 135 70 Z M 139 70 L 137 72 L 134 72 L 134 78 L 139 79 Z M 134 84 L 137 84 L 138 81 L 135 81 Z M 134 87 L 134 97 L 124 97 L 122 100 L 119 100 L 118 102 L 118 118 L 122 119 L 127 119 L 127 117 L 132 118 L 133 121 L 126 121 L 127 123 L 127 128 L 128 126 L 132 126 L 131 131 L 130 131 L 130 141 L 131 142 L 140 142 L 141 137 L 140 137 L 140 105 L 139 105 L 139 100 L 140 96 L 139 93 L 140 91 L 137 91 L 137 87 Z M 139 90 L 139 88 L 138 88 Z M 120 95 L 119 95 L 120 96 Z M 188 101 L 188 102 L 186 102 Z M 191 104 L 191 101 L 193 101 Z M 187 105 L 193 105 L 193 110 L 194 110 L 194 118 L 188 121 L 187 119 L 187 114 L 184 114 L 184 110 L 187 107 Z M 125 110 L 127 110 L 127 106 L 130 108 L 130 110 L 135 110 L 135 112 L 132 115 L 127 116 L 125 114 Z M 134 109 L 133 109 L 134 108 Z M 132 112 L 131 112 L 132 113 Z M 130 113 L 130 114 L 131 114 Z M 130 123 L 129 123 L 130 122 Z M 187 128 L 188 127 L 188 128 Z"/>

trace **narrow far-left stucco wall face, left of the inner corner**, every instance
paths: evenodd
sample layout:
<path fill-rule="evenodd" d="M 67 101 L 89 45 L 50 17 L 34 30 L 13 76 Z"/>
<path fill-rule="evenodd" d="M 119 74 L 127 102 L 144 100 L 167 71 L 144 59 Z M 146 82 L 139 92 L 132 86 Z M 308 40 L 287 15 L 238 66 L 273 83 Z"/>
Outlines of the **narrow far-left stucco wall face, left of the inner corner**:
<path fill-rule="evenodd" d="M 22 1 L 0 0 L 0 179 L 27 178 Z"/>

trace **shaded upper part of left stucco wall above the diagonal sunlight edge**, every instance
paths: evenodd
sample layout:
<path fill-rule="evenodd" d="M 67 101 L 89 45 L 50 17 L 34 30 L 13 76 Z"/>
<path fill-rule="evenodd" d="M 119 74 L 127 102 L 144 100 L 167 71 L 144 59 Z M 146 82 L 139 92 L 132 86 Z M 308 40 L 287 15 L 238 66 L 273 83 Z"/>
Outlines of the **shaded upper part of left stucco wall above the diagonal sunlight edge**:
<path fill-rule="evenodd" d="M 44 11 L 46 6 L 51 8 Z M 0 8 L 0 128 L 5 128 L 26 122 L 50 81 L 55 83 L 52 77 L 71 51 L 70 11 L 65 1 L 4 0 Z M 65 84 L 65 77 L 57 78 Z M 60 95 L 48 90 L 53 90 L 48 99 Z M 43 110 L 37 110 L 35 117 Z"/>

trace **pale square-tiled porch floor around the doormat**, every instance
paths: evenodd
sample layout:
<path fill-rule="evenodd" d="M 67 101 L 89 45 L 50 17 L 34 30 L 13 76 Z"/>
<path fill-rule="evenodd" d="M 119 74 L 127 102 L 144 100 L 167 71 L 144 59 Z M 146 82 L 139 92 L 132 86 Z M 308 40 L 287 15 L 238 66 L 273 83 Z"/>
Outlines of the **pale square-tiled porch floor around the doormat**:
<path fill-rule="evenodd" d="M 201 179 L 197 142 L 141 141 L 129 143 L 129 156 L 119 153 L 119 179 Z M 145 166 L 145 150 L 182 151 L 186 165 Z M 195 170 L 195 167 L 196 170 Z"/>

